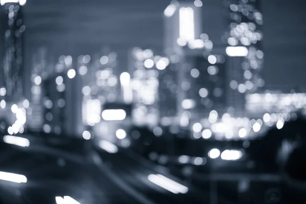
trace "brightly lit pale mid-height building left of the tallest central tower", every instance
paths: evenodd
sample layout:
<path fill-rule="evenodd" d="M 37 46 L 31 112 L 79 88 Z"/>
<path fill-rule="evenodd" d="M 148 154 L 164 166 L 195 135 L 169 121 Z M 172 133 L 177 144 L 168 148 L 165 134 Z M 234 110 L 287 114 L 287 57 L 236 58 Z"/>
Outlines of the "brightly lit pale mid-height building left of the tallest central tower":
<path fill-rule="evenodd" d="M 133 88 L 132 119 L 136 125 L 158 124 L 159 70 L 165 69 L 168 65 L 168 58 L 155 56 L 151 49 L 131 50 L 129 72 Z"/>

